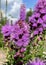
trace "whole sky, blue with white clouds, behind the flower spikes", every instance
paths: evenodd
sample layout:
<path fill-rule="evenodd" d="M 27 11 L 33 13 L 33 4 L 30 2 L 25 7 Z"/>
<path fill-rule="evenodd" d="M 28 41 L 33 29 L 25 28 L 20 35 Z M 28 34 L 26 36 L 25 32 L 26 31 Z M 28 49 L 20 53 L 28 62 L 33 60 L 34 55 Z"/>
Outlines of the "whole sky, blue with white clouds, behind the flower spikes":
<path fill-rule="evenodd" d="M 6 0 L 1 0 L 1 8 L 4 13 L 6 13 Z M 7 0 L 7 17 L 8 19 L 19 19 L 20 6 L 22 3 L 26 6 L 26 11 L 29 11 L 29 8 L 34 9 L 37 0 Z"/>

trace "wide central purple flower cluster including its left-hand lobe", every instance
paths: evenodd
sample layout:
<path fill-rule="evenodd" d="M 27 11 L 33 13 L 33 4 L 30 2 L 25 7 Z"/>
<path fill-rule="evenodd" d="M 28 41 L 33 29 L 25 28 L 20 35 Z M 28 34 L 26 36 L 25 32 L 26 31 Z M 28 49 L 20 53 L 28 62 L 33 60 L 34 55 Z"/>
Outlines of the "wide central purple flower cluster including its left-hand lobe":
<path fill-rule="evenodd" d="M 2 33 L 5 40 L 14 40 L 18 47 L 26 47 L 29 43 L 29 25 L 19 20 L 15 25 L 5 25 L 2 27 Z"/>

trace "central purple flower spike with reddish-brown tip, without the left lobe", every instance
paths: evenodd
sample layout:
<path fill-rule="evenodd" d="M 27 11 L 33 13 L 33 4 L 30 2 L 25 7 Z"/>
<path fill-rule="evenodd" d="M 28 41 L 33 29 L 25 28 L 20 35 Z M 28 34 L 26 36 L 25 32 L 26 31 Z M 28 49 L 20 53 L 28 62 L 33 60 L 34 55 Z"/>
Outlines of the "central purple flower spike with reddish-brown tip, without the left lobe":
<path fill-rule="evenodd" d="M 12 29 L 12 39 L 18 47 L 26 47 L 30 41 L 29 25 L 19 20 Z"/>

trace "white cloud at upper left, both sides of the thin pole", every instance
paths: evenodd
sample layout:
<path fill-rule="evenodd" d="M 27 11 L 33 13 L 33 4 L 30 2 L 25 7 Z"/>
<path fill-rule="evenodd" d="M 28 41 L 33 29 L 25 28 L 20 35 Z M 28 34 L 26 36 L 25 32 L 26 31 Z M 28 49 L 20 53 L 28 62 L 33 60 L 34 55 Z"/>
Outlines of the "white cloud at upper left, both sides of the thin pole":
<path fill-rule="evenodd" d="M 2 9 L 5 9 L 5 2 L 6 0 L 1 0 L 2 2 Z M 8 19 L 18 19 L 19 18 L 19 11 L 20 11 L 20 5 L 22 4 L 22 0 L 7 0 L 8 2 L 8 6 L 10 7 L 10 9 L 8 8 L 7 11 L 7 17 Z M 9 16 L 11 15 L 11 16 Z"/>

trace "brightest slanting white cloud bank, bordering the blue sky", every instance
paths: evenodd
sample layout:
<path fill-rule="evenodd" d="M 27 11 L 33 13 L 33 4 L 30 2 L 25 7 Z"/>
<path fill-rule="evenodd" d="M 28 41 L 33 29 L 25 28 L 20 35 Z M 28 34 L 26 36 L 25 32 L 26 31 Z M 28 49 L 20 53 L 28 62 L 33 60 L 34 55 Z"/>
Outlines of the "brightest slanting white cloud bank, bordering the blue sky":
<path fill-rule="evenodd" d="M 19 18 L 21 4 L 22 4 L 22 0 L 15 0 L 8 14 L 10 14 L 12 17 Z"/>

